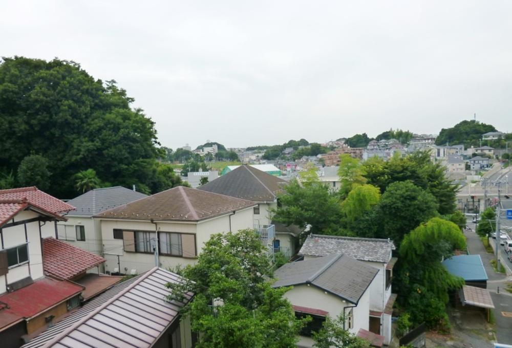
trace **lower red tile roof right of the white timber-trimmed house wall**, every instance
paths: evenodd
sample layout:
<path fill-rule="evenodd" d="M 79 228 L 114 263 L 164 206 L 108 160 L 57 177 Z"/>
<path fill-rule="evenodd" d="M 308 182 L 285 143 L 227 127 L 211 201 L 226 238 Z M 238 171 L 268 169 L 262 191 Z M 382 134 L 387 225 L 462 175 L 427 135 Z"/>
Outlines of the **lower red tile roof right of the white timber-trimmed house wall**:
<path fill-rule="evenodd" d="M 53 237 L 42 240 L 42 267 L 52 277 L 70 279 L 105 261 L 99 255 Z"/>

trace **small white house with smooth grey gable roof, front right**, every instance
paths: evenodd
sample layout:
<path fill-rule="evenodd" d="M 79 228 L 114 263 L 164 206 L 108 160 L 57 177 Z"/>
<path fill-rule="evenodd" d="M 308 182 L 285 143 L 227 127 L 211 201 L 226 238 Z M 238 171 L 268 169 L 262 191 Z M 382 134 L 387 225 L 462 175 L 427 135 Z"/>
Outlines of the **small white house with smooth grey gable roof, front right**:
<path fill-rule="evenodd" d="M 367 334 L 370 330 L 371 288 L 379 270 L 346 254 L 332 254 L 288 263 L 275 271 L 273 288 L 289 287 L 284 296 L 295 315 L 311 316 L 301 332 L 298 346 L 311 347 L 311 334 L 322 327 L 327 316 L 345 318 L 344 329 Z M 382 345 L 384 337 L 380 337 Z M 378 339 L 378 337 L 375 337 Z"/>

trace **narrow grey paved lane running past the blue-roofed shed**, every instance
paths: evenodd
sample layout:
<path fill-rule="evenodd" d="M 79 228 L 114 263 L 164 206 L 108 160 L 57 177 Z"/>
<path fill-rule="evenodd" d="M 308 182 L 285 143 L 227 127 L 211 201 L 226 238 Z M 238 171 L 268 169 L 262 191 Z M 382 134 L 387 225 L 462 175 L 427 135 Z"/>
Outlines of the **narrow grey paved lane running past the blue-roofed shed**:
<path fill-rule="evenodd" d="M 496 273 L 490 264 L 490 260 L 494 259 L 494 254 L 489 254 L 485 251 L 480 238 L 474 231 L 465 232 L 467 237 L 467 249 L 471 254 L 480 254 L 482 262 L 487 272 L 489 280 L 487 281 L 487 289 L 493 298 L 494 317 L 496 320 L 496 338 L 500 343 L 512 344 L 512 317 L 502 315 L 502 312 L 512 312 L 512 294 L 503 292 L 505 283 L 512 281 L 511 276 L 505 276 L 503 273 Z M 501 247 L 502 255 L 505 254 L 503 247 Z M 498 287 L 500 293 L 497 293 Z"/>

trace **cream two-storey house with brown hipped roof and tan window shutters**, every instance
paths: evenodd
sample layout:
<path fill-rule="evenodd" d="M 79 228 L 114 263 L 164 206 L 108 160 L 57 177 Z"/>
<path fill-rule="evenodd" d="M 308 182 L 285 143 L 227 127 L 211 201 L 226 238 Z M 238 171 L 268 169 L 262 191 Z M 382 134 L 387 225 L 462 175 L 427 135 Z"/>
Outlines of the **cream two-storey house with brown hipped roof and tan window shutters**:
<path fill-rule="evenodd" d="M 138 274 L 196 262 L 210 235 L 253 228 L 254 202 L 178 186 L 95 215 L 105 270 Z M 259 230 L 260 233 L 265 231 Z M 263 243 L 266 236 L 261 234 Z"/>

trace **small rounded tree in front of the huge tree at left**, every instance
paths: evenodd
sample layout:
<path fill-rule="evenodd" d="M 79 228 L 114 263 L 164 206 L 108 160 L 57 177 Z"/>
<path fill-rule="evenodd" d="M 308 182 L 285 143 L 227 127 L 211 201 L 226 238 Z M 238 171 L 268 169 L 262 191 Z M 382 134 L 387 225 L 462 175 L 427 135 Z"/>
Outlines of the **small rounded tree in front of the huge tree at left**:
<path fill-rule="evenodd" d="M 37 186 L 45 191 L 50 187 L 48 160 L 40 155 L 25 157 L 18 166 L 19 186 Z"/>

